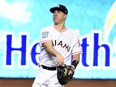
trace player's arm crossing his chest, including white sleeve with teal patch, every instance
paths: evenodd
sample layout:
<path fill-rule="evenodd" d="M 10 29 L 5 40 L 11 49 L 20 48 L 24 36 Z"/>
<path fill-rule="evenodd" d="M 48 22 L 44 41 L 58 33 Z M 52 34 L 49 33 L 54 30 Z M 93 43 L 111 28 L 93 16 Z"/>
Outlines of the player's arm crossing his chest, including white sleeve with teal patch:
<path fill-rule="evenodd" d="M 64 63 L 63 56 L 53 48 L 50 29 L 43 29 L 40 33 L 40 42 L 49 55 L 55 56 L 59 64 Z"/>

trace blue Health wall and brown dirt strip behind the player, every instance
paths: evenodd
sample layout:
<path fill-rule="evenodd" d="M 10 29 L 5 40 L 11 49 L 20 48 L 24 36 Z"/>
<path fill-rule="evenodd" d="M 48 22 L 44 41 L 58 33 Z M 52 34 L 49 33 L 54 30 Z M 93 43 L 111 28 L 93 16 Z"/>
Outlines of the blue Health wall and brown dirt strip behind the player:
<path fill-rule="evenodd" d="M 115 87 L 116 0 L 0 0 L 0 87 L 31 87 L 40 30 L 53 24 L 49 9 L 58 4 L 67 7 L 66 26 L 78 30 L 83 49 L 66 87 Z"/>

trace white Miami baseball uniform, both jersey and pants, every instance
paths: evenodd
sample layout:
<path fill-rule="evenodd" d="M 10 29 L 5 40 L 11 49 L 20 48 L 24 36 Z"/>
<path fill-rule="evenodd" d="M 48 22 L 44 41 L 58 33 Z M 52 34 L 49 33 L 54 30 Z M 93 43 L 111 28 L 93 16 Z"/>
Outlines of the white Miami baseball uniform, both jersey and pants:
<path fill-rule="evenodd" d="M 52 25 L 43 28 L 40 33 L 40 65 L 33 87 L 63 87 L 57 80 L 56 70 L 47 70 L 41 66 L 56 67 L 58 64 L 56 58 L 43 47 L 42 43 L 46 41 L 52 41 L 53 48 L 64 57 L 64 63 L 71 65 L 71 55 L 81 53 L 78 32 L 69 28 L 59 32 Z"/>

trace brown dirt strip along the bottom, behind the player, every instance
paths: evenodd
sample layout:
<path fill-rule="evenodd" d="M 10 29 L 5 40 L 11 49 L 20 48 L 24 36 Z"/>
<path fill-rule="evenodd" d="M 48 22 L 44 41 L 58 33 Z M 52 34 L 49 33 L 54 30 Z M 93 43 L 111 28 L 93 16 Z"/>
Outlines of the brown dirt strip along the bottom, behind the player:
<path fill-rule="evenodd" d="M 31 87 L 34 79 L 0 79 L 0 87 Z M 72 80 L 65 87 L 116 87 L 116 80 Z"/>

